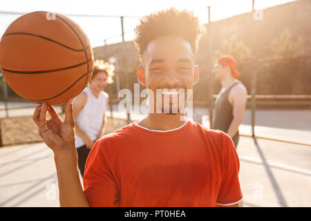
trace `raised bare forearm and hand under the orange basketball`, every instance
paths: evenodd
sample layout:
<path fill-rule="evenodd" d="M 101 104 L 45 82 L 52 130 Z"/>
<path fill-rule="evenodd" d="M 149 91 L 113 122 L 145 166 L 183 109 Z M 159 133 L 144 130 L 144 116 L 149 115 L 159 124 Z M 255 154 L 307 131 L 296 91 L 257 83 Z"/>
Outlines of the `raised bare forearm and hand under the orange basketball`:
<path fill-rule="evenodd" d="M 75 120 L 73 99 L 66 103 L 64 121 L 53 106 L 46 103 L 38 106 L 33 121 L 39 128 L 39 135 L 54 152 L 59 184 L 60 206 L 88 206 L 77 170 L 77 149 L 75 148 Z M 50 119 L 46 120 L 48 111 Z"/>

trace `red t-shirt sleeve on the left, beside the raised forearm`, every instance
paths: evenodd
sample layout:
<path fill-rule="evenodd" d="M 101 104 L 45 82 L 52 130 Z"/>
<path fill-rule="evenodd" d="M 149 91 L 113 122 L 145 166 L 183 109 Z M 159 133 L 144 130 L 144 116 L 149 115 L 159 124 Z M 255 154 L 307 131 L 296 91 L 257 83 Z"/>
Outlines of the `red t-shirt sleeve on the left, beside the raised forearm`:
<path fill-rule="evenodd" d="M 103 139 L 95 142 L 88 160 L 86 160 L 83 177 L 84 195 L 88 204 L 94 207 L 118 206 L 120 194 L 115 176 L 111 172 L 103 149 Z"/>

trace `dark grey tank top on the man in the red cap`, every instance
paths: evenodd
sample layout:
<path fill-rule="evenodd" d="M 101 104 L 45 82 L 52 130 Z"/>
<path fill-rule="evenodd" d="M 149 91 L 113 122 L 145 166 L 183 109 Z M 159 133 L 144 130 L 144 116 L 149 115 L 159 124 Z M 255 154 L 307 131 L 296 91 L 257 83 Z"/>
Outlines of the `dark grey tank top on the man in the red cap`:
<path fill-rule="evenodd" d="M 225 133 L 227 133 L 228 128 L 232 122 L 233 119 L 233 106 L 229 103 L 228 95 L 230 90 L 236 86 L 236 84 L 239 84 L 240 81 L 236 80 L 232 86 L 227 88 L 225 92 L 218 95 L 216 102 L 215 102 L 215 109 L 214 109 L 214 121 L 213 121 L 213 129 L 214 130 L 220 130 Z M 232 140 L 234 141 L 234 145 L 238 145 L 238 132 L 234 137 L 232 137 Z"/>

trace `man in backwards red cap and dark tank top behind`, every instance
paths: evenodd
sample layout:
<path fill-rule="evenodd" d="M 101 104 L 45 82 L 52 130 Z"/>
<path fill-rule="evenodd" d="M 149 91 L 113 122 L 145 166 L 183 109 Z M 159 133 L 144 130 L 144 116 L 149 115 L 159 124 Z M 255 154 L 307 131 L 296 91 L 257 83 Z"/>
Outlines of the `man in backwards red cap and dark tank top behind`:
<path fill-rule="evenodd" d="M 212 127 L 230 135 L 234 146 L 237 147 L 238 126 L 243 121 L 247 92 L 241 81 L 235 79 L 240 73 L 236 70 L 234 57 L 229 55 L 219 57 L 213 71 L 223 88 L 216 99 Z"/>

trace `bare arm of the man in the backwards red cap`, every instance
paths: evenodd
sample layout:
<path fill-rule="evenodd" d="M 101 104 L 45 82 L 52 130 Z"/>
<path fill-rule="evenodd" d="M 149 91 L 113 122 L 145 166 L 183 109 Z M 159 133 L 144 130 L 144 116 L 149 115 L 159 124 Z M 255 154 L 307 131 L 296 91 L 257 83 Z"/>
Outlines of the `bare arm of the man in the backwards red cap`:
<path fill-rule="evenodd" d="M 229 96 L 233 105 L 233 119 L 228 128 L 227 134 L 234 137 L 238 132 L 238 126 L 243 122 L 243 115 L 247 101 L 247 91 L 243 85 L 238 85 L 232 88 L 231 95 Z"/>

